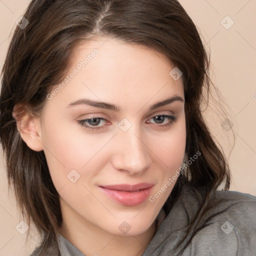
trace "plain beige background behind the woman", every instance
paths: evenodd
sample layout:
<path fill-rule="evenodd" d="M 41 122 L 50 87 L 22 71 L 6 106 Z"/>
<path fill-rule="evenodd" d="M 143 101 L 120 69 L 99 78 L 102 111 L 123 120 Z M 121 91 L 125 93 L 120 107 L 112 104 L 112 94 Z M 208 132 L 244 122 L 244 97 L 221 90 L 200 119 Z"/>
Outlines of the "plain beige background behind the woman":
<path fill-rule="evenodd" d="M 180 2 L 199 27 L 207 50 L 210 48 L 212 80 L 230 107 L 229 119 L 234 124 L 236 137 L 229 157 L 232 173 L 230 190 L 256 195 L 256 0 Z M 23 14 L 28 3 L 29 0 L 0 0 L 0 67 L 15 21 Z M 234 21 L 229 29 L 226 28 L 232 20 L 227 15 Z M 223 130 L 221 122 L 215 122 L 210 114 L 207 118 L 212 134 L 224 147 L 228 157 L 231 131 Z M 0 170 L 0 256 L 28 255 L 36 244 L 36 236 L 30 237 L 30 246 L 24 246 L 26 234 L 22 235 L 15 229 L 21 219 L 13 196 L 8 197 L 2 158 Z"/>

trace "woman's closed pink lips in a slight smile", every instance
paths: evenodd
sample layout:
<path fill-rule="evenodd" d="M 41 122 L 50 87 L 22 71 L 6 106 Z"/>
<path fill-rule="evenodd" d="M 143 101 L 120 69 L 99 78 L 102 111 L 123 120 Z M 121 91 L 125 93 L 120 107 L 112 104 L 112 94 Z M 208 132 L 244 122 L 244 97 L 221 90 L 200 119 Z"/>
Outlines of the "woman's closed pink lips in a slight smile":
<path fill-rule="evenodd" d="M 153 183 L 138 183 L 135 185 L 118 184 L 99 187 L 115 201 L 126 206 L 134 206 L 148 198 L 153 185 Z"/>

